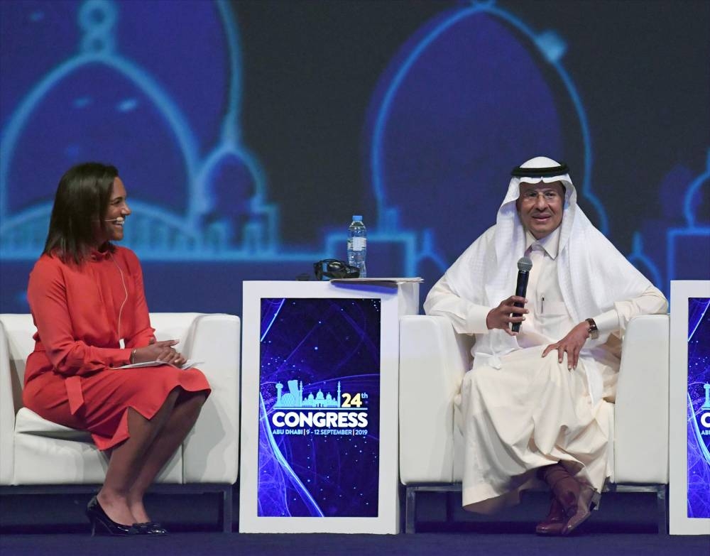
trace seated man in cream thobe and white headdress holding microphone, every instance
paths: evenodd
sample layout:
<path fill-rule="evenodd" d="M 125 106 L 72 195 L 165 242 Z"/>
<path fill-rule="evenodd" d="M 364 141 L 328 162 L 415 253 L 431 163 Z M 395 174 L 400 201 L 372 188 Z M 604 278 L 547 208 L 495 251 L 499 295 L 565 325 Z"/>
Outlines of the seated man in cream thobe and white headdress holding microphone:
<path fill-rule="evenodd" d="M 525 298 L 510 295 L 523 256 L 532 261 Z M 476 338 L 456 400 L 464 508 L 517 503 L 537 476 L 552 491 L 537 533 L 571 533 L 608 476 L 621 337 L 635 315 L 665 312 L 665 297 L 577 206 L 567 166 L 536 157 L 513 170 L 496 225 L 424 308 Z"/>

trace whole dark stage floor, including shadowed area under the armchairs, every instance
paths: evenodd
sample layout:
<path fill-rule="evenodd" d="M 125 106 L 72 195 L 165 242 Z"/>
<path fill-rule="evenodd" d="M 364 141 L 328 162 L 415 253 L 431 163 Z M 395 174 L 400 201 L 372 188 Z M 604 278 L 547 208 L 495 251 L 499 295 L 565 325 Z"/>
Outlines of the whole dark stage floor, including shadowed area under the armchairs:
<path fill-rule="evenodd" d="M 83 517 L 89 496 L 2 496 L 0 556 L 710 554 L 708 536 L 657 534 L 654 494 L 606 494 L 601 509 L 569 538 L 541 538 L 532 533 L 535 522 L 546 513 L 545 493 L 530 493 L 520 506 L 494 518 L 461 511 L 456 496 L 449 494 L 447 520 L 447 495 L 421 493 L 418 532 L 413 535 L 256 535 L 220 533 L 216 496 L 154 494 L 148 498 L 148 508 L 172 531 L 165 538 L 90 537 Z M 239 523 L 234 528 L 238 530 Z"/>

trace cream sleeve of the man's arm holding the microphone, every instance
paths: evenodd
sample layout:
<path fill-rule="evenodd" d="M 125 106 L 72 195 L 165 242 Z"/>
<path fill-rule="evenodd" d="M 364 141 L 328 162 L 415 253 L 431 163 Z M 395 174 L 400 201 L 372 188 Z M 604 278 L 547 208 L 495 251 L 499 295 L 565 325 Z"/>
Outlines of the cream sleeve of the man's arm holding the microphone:
<path fill-rule="evenodd" d="M 485 334 L 486 317 L 491 307 L 476 305 L 454 293 L 446 275 L 434 285 L 424 302 L 427 315 L 447 317 L 459 334 Z"/>

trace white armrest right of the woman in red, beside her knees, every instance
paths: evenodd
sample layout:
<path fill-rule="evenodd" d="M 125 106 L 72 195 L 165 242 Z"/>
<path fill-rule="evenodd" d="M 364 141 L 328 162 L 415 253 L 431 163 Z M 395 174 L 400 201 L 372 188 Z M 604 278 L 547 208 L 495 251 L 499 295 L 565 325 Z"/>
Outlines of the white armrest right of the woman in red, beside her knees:
<path fill-rule="evenodd" d="M 239 462 L 239 349 L 241 321 L 234 315 L 201 315 L 185 351 L 207 376 L 212 393 L 182 444 L 185 483 L 236 482 Z M 189 371 L 187 371 L 189 372 Z"/>

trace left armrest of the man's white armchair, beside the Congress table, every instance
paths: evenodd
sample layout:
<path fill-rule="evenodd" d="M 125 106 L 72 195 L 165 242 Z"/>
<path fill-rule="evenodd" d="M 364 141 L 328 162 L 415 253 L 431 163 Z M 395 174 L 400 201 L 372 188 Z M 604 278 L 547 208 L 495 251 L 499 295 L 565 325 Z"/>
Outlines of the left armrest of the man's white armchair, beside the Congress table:
<path fill-rule="evenodd" d="M 400 480 L 454 480 L 454 396 L 471 339 L 444 317 L 400 318 Z"/>

